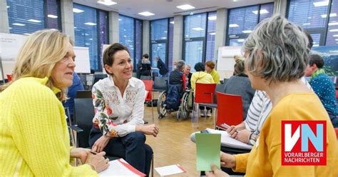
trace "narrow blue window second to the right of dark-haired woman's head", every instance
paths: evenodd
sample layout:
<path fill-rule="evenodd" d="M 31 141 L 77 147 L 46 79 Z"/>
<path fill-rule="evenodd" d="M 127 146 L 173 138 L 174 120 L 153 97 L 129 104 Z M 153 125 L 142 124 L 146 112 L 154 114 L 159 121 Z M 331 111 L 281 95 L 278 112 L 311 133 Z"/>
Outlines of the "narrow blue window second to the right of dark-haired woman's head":
<path fill-rule="evenodd" d="M 151 66 L 156 67 L 155 57 L 168 65 L 167 62 L 168 46 L 168 19 L 150 21 L 150 61 Z"/>

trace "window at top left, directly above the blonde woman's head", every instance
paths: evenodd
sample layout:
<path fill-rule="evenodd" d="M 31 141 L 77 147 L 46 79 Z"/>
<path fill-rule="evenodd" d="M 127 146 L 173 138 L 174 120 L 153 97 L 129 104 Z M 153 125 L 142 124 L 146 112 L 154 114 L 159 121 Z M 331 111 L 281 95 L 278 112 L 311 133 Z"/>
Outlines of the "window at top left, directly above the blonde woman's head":
<path fill-rule="evenodd" d="M 7 0 L 9 32 L 31 34 L 41 29 L 61 29 L 59 8 L 56 0 Z"/>

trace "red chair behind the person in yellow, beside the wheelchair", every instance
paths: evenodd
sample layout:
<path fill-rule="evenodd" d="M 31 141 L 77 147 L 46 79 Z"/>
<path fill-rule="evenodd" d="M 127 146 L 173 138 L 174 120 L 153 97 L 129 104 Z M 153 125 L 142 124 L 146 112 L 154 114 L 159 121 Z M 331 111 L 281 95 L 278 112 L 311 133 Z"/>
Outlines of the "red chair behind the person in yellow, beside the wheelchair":
<path fill-rule="evenodd" d="M 196 83 L 195 101 L 194 101 L 193 118 L 192 118 L 193 122 L 196 121 L 198 123 L 198 117 L 200 116 L 199 103 L 213 103 L 214 102 L 214 94 L 215 94 L 216 85 L 217 84 Z M 197 110 L 197 115 L 195 112 L 196 110 Z M 194 120 L 194 118 L 196 118 L 196 120 Z"/>

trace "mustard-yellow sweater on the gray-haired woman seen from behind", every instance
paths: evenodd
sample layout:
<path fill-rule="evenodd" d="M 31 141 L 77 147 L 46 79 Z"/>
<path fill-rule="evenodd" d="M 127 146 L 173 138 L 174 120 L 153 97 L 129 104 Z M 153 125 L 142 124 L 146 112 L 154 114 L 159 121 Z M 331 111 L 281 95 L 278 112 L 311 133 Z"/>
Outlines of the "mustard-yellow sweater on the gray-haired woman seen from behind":
<path fill-rule="evenodd" d="M 281 121 L 327 121 L 326 166 L 282 166 Z M 332 123 L 314 93 L 292 93 L 282 98 L 267 117 L 250 153 L 235 155 L 235 171 L 246 176 L 337 176 L 338 144 Z"/>

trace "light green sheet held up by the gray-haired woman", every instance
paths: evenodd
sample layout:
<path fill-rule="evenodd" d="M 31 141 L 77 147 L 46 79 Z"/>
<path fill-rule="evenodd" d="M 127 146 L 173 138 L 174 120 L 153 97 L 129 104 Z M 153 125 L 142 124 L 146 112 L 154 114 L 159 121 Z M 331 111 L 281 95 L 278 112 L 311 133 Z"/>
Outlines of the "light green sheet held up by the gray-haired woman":
<path fill-rule="evenodd" d="M 197 171 L 211 171 L 211 163 L 220 169 L 220 134 L 195 133 Z"/>

